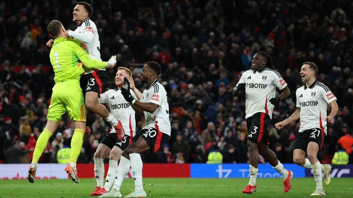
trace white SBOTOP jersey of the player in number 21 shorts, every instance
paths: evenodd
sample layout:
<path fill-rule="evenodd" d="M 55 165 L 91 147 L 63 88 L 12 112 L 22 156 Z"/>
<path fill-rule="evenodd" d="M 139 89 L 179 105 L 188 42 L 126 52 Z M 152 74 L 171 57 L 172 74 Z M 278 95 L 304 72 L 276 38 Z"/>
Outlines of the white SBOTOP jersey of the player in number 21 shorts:
<path fill-rule="evenodd" d="M 306 84 L 306 83 L 305 83 Z M 297 89 L 297 107 L 300 107 L 299 132 L 307 129 L 321 128 L 327 133 L 327 104 L 336 100 L 330 89 L 317 80 L 306 87 L 305 84 Z"/>

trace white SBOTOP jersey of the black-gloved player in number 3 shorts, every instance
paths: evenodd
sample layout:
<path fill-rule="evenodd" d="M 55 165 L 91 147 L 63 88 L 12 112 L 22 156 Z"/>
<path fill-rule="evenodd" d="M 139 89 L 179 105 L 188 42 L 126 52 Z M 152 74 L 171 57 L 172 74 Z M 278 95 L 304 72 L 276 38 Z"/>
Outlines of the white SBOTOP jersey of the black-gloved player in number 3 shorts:
<path fill-rule="evenodd" d="M 237 87 L 239 83 L 246 83 L 245 118 L 249 118 L 255 113 L 263 112 L 272 119 L 274 105 L 269 100 L 276 97 L 276 87 L 282 90 L 287 86 L 281 74 L 267 67 L 261 71 L 249 69 L 241 75 Z"/>

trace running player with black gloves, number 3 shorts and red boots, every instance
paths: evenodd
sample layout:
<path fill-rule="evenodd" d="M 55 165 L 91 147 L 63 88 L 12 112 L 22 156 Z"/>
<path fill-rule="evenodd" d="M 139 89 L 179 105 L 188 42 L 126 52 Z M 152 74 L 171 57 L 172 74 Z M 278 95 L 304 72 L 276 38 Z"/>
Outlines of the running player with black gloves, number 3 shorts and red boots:
<path fill-rule="evenodd" d="M 249 150 L 249 174 L 250 181 L 243 193 L 256 191 L 257 165 L 261 154 L 277 172 L 283 176 L 284 191 L 291 188 L 292 171 L 287 171 L 277 159 L 275 153 L 268 148 L 267 127 L 271 123 L 273 107 L 290 95 L 286 81 L 273 70 L 271 56 L 266 52 L 257 52 L 251 62 L 251 68 L 245 71 L 233 89 L 233 96 L 237 97 L 241 91 L 245 91 L 246 122 L 247 122 L 247 148 Z M 282 93 L 276 97 L 276 87 Z"/>

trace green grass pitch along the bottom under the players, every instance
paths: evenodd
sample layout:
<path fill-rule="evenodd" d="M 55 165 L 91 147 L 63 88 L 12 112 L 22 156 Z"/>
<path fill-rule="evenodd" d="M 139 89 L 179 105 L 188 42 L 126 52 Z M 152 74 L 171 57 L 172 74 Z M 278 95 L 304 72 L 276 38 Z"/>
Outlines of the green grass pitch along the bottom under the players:
<path fill-rule="evenodd" d="M 148 197 L 307 197 L 315 190 L 314 178 L 293 178 L 292 188 L 283 191 L 282 178 L 258 178 L 257 191 L 243 194 L 248 178 L 143 178 Z M 95 188 L 95 179 L 0 180 L 0 197 L 89 197 Z M 123 196 L 134 188 L 133 179 L 125 179 L 121 186 Z M 325 186 L 326 197 L 353 197 L 353 178 L 333 178 Z"/>

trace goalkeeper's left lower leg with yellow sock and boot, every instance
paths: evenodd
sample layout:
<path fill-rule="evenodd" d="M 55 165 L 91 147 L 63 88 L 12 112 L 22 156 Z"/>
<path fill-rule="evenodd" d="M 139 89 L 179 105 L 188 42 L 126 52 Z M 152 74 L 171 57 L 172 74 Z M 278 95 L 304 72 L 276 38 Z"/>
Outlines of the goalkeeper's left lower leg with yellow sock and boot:
<path fill-rule="evenodd" d="M 33 153 L 32 163 L 28 168 L 27 179 L 31 183 L 34 183 L 36 180 L 38 160 L 41 157 L 44 149 L 47 147 L 49 138 L 53 135 L 53 132 L 58 128 L 58 126 L 59 121 L 48 120 L 43 132 L 38 137 Z"/>

